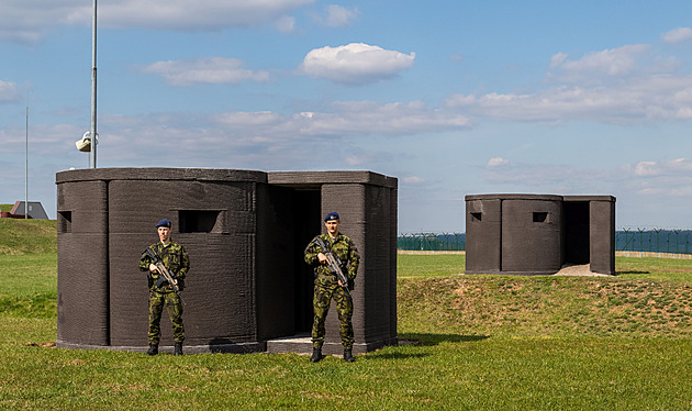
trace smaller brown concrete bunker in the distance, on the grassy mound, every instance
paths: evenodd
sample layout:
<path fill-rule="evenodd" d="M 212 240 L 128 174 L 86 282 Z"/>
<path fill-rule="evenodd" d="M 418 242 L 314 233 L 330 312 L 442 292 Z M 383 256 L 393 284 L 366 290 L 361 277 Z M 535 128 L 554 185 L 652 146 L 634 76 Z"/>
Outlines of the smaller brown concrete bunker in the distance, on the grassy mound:
<path fill-rule="evenodd" d="M 612 196 L 466 196 L 466 273 L 550 275 L 566 264 L 615 274 Z"/>

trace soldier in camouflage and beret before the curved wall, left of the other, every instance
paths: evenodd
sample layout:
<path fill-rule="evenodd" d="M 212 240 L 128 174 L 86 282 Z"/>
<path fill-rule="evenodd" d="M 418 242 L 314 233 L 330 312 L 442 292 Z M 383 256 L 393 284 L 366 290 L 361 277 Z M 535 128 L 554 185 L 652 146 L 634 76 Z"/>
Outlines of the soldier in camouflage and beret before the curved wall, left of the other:
<path fill-rule="evenodd" d="M 160 241 L 149 245 L 149 248 L 161 259 L 163 264 L 175 278 L 174 281 L 180 291 L 182 291 L 185 288 L 185 276 L 190 268 L 190 259 L 182 245 L 170 240 L 171 225 L 170 220 L 166 219 L 156 224 Z M 142 258 L 139 259 L 139 270 L 149 271 L 149 349 L 147 354 L 158 354 L 158 343 L 161 335 L 161 313 L 164 306 L 166 306 L 174 331 L 174 354 L 182 355 L 185 326 L 182 325 L 182 301 L 180 297 L 174 292 L 167 281 L 156 287 L 159 277 L 158 268 L 156 268 L 154 259 L 145 253 L 142 253 Z"/>

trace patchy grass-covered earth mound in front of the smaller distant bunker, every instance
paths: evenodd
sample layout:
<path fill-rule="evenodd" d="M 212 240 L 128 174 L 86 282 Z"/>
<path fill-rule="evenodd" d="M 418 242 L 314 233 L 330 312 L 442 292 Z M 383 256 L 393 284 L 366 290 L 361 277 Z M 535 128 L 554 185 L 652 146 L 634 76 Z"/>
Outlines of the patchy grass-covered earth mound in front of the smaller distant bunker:
<path fill-rule="evenodd" d="M 400 330 L 467 336 L 692 334 L 692 287 L 603 277 L 401 280 Z"/>

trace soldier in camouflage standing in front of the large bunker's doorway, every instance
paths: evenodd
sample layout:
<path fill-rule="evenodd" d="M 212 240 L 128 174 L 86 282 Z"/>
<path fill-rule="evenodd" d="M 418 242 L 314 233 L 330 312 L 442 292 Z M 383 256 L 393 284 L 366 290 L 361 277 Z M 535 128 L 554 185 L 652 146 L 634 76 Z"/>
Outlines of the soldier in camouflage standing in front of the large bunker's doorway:
<path fill-rule="evenodd" d="M 347 267 L 349 284 L 342 284 L 336 279 L 336 276 L 328 268 L 327 258 L 324 255 L 326 251 L 322 249 L 317 244 L 317 237 L 313 238 L 305 248 L 305 263 L 314 267 L 315 274 L 315 288 L 312 301 L 314 310 L 314 320 L 312 323 L 312 356 L 310 360 L 316 363 L 322 359 L 322 344 L 324 343 L 325 334 L 324 321 L 326 320 L 332 298 L 334 298 L 338 320 L 341 322 L 339 331 L 342 345 L 344 346 L 344 360 L 353 363 L 355 362 L 353 356 L 354 326 L 351 323 L 354 301 L 346 287 L 353 289 L 360 256 L 358 255 L 358 248 L 356 248 L 354 242 L 338 232 L 341 221 L 337 213 L 328 213 L 324 218 L 324 225 L 327 229 L 327 233 L 321 234 L 319 237 L 324 241 L 332 253 Z"/>

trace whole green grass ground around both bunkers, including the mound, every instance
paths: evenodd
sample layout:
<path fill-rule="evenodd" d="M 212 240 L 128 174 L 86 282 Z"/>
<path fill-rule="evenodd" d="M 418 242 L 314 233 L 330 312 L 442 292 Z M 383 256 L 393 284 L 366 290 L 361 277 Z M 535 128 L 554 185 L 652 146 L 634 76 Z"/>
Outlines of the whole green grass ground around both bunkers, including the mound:
<path fill-rule="evenodd" d="M 692 260 L 617 258 L 617 277 L 462 267 L 458 255 L 400 255 L 401 344 L 312 364 L 52 347 L 55 252 L 4 253 L 0 409 L 692 409 Z"/>

